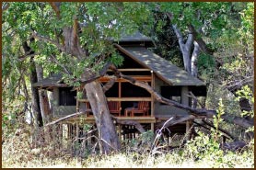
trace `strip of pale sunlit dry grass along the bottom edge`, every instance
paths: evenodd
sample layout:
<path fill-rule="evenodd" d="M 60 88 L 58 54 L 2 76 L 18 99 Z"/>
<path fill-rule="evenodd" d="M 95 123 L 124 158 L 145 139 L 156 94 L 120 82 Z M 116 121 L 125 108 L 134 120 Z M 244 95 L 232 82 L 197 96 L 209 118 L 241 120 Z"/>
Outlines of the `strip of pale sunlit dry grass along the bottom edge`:
<path fill-rule="evenodd" d="M 11 159 L 11 158 L 10 158 Z M 201 162 L 194 162 L 193 160 L 184 160 L 180 163 L 177 163 L 176 158 L 173 158 L 170 154 L 159 156 L 157 158 L 145 156 L 142 160 L 134 160 L 131 156 L 127 156 L 124 153 L 117 153 L 110 156 L 98 156 L 91 157 L 85 160 L 79 158 L 72 158 L 69 160 L 64 159 L 43 159 L 40 160 L 35 157 L 35 159 L 30 160 L 29 162 L 17 162 L 13 164 L 8 164 L 6 161 L 2 162 L 2 167 L 11 167 L 11 168 L 20 168 L 20 167 L 36 167 L 36 168 L 147 168 L 147 167 L 157 167 L 157 168 L 167 168 L 167 167 L 191 167 L 191 168 L 204 168 L 204 167 L 215 167 L 215 163 L 209 162 L 209 160 L 204 160 Z M 234 159 L 234 161 L 236 161 Z M 233 167 L 235 168 L 252 168 L 251 162 L 248 161 L 239 161 Z"/>

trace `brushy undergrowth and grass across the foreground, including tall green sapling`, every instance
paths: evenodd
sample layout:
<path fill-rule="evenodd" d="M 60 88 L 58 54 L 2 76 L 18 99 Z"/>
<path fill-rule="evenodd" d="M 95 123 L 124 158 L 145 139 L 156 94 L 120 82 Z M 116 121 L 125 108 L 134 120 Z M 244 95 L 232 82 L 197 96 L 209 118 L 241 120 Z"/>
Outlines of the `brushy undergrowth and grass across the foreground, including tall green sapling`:
<path fill-rule="evenodd" d="M 220 100 L 215 127 L 222 121 L 223 107 Z M 58 126 L 30 129 L 21 123 L 16 131 L 2 133 L 2 167 L 254 167 L 254 140 L 237 151 L 224 150 L 222 134 L 215 129 L 208 134 L 198 131 L 198 136 L 183 143 L 185 136 L 179 147 L 170 147 L 161 138 L 164 128 L 156 136 L 149 130 L 123 141 L 121 151 L 109 155 L 99 154 L 95 139 L 60 138 Z"/>

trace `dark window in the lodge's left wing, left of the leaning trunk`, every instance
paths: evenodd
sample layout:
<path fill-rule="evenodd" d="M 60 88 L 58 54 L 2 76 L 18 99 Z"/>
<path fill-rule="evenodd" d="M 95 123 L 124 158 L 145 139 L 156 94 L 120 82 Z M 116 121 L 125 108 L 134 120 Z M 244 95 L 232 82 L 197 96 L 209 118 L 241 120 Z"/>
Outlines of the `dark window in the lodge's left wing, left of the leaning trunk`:
<path fill-rule="evenodd" d="M 71 90 L 72 87 L 59 88 L 60 106 L 76 106 L 76 90 Z"/>

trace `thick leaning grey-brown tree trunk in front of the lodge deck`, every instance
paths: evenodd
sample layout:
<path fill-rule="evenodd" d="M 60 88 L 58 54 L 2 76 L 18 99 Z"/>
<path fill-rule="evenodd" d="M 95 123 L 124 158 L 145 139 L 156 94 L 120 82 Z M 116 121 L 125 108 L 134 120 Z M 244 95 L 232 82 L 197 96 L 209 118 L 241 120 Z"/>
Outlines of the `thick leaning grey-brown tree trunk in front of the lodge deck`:
<path fill-rule="evenodd" d="M 119 151 L 119 138 L 111 120 L 107 100 L 101 85 L 98 81 L 94 81 L 86 84 L 85 89 L 99 131 L 100 152 L 107 154 L 111 151 Z"/>

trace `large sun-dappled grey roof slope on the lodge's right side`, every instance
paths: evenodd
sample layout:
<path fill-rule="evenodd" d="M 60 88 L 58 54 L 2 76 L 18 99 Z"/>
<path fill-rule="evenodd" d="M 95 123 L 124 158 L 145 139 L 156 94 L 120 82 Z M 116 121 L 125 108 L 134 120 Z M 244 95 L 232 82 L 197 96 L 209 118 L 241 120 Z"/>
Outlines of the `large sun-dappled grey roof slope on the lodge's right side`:
<path fill-rule="evenodd" d="M 204 82 L 198 78 L 161 58 L 156 53 L 145 49 L 145 47 L 119 46 L 119 49 L 145 68 L 151 69 L 160 79 L 170 85 L 204 85 Z"/>

